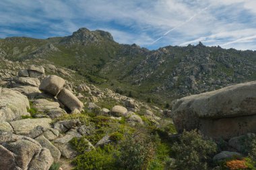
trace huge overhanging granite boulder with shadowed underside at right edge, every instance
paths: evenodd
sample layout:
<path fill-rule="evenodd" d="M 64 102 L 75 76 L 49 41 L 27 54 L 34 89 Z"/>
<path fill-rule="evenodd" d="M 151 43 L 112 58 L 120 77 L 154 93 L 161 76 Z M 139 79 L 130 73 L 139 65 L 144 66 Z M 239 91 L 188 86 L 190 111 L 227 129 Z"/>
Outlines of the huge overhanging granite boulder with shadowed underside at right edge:
<path fill-rule="evenodd" d="M 171 117 L 178 132 L 201 130 L 212 138 L 232 138 L 256 132 L 256 81 L 241 83 L 172 103 Z"/>

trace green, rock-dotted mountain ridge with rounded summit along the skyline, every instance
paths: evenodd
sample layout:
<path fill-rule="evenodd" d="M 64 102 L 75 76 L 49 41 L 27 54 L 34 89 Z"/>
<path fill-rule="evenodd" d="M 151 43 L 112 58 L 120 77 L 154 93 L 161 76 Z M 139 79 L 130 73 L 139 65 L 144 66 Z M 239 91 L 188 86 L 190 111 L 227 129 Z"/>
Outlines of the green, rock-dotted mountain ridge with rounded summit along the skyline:
<path fill-rule="evenodd" d="M 0 56 L 26 62 L 38 58 L 83 75 L 88 81 L 160 105 L 185 95 L 256 80 L 256 52 L 197 46 L 158 50 L 119 44 L 110 33 L 80 28 L 45 40 L 0 39 Z"/>

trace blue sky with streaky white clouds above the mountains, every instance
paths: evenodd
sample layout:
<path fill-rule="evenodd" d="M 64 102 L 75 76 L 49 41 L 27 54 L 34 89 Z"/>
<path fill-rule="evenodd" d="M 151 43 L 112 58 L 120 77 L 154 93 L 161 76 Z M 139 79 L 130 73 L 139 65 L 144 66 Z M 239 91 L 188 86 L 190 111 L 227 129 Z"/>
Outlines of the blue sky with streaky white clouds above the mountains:
<path fill-rule="evenodd" d="M 255 0 L 1 0 L 0 38 L 69 36 L 79 28 L 149 49 L 256 50 Z"/>

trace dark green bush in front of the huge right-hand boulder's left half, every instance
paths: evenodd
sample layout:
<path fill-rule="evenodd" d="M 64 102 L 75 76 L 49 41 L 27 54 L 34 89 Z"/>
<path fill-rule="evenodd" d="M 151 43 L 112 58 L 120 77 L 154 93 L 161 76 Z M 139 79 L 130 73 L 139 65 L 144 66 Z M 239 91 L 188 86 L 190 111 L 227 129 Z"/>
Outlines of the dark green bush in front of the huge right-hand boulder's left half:
<path fill-rule="evenodd" d="M 207 169 L 207 163 L 211 163 L 217 145 L 212 140 L 203 140 L 196 130 L 184 131 L 180 136 L 180 142 L 174 142 L 172 151 L 176 159 L 175 165 L 179 169 Z"/>

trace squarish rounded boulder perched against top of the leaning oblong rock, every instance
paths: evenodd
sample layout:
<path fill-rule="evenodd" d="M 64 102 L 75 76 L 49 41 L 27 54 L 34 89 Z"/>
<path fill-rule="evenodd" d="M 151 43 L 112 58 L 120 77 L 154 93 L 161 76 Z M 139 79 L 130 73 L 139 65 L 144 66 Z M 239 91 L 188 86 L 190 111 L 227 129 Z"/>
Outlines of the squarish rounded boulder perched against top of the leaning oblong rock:
<path fill-rule="evenodd" d="M 49 75 L 42 80 L 39 89 L 55 96 L 59 93 L 59 91 L 61 91 L 64 85 L 64 79 L 58 77 L 57 75 Z"/>

